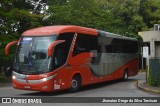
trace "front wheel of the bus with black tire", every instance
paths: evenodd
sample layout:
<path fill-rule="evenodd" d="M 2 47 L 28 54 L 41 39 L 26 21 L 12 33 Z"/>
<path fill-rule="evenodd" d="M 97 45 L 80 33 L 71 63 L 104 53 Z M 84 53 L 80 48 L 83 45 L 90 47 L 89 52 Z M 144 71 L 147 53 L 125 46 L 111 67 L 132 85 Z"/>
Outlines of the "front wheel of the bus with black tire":
<path fill-rule="evenodd" d="M 81 86 L 81 77 L 79 76 L 74 76 L 71 80 L 71 88 L 70 92 L 77 92 L 80 89 Z"/>

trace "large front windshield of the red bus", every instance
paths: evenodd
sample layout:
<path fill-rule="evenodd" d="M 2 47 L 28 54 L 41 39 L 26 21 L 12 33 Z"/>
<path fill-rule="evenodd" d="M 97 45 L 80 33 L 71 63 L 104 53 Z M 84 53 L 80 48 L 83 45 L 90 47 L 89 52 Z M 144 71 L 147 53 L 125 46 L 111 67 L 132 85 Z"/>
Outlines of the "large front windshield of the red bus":
<path fill-rule="evenodd" d="M 22 37 L 18 44 L 14 71 L 22 74 L 42 74 L 50 71 L 51 57 L 48 57 L 49 45 L 57 36 Z"/>

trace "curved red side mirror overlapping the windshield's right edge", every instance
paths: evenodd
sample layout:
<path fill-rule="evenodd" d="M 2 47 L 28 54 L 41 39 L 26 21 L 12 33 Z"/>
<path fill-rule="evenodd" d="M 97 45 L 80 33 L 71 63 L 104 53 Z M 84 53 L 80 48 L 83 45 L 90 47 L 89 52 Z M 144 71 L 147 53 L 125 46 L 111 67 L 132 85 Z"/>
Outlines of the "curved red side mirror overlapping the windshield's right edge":
<path fill-rule="evenodd" d="M 49 47 L 48 47 L 48 57 L 51 57 L 53 52 L 54 52 L 54 47 L 60 43 L 65 42 L 65 40 L 56 40 L 54 42 L 52 42 Z"/>

